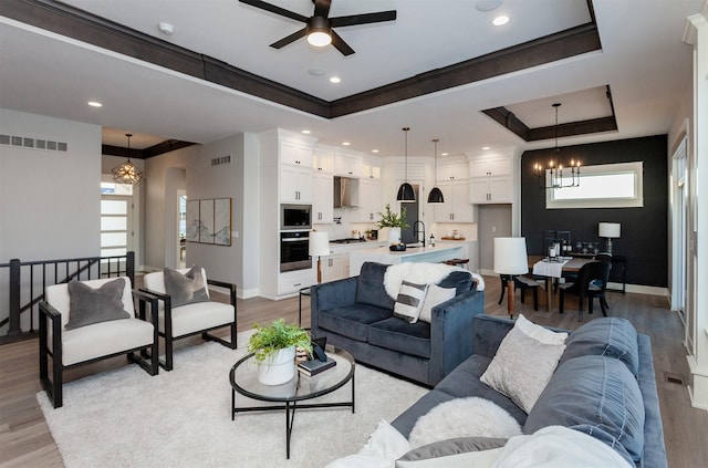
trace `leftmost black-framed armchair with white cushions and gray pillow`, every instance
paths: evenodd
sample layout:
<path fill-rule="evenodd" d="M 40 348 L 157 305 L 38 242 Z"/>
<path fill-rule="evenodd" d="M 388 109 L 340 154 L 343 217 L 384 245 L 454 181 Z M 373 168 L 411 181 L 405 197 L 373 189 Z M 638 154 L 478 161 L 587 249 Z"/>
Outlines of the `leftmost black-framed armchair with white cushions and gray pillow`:
<path fill-rule="evenodd" d="M 137 318 L 133 298 L 138 300 Z M 157 310 L 157 299 L 132 290 L 129 278 L 50 285 L 44 299 L 39 304 L 40 382 L 55 408 L 63 405 L 67 368 L 126 354 L 148 374 L 158 373 L 157 321 L 144 320 L 147 304 Z"/>

